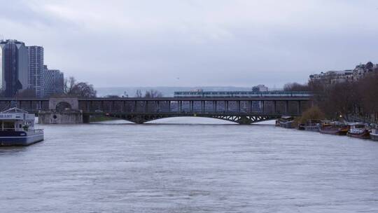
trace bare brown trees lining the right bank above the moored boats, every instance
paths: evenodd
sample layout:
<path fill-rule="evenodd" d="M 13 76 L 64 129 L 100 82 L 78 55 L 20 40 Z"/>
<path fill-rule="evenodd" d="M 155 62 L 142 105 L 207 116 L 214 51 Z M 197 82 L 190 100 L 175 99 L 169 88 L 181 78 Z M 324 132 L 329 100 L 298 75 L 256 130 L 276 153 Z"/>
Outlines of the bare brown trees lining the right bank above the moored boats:
<path fill-rule="evenodd" d="M 307 85 L 289 83 L 286 91 L 314 92 L 314 102 L 328 118 L 337 116 L 363 116 L 377 118 L 378 114 L 378 74 L 367 74 L 353 82 L 334 83 L 309 81 Z"/>

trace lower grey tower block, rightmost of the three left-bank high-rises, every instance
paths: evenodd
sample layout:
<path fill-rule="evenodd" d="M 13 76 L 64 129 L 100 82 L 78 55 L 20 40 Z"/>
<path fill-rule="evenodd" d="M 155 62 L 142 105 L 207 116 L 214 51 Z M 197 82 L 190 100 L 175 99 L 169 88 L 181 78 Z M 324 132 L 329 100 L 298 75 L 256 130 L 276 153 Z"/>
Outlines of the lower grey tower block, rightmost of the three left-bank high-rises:
<path fill-rule="evenodd" d="M 58 69 L 48 69 L 43 66 L 44 95 L 50 97 L 64 92 L 64 74 Z"/>

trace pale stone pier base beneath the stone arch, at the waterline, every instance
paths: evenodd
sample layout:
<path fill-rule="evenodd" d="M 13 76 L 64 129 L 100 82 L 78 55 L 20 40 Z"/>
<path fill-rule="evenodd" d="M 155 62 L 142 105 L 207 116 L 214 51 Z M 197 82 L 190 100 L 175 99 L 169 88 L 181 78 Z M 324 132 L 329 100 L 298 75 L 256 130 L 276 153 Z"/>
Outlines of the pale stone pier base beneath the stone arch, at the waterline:
<path fill-rule="evenodd" d="M 41 124 L 72 124 L 83 123 L 83 112 L 80 110 L 70 111 L 40 111 L 38 123 Z"/>

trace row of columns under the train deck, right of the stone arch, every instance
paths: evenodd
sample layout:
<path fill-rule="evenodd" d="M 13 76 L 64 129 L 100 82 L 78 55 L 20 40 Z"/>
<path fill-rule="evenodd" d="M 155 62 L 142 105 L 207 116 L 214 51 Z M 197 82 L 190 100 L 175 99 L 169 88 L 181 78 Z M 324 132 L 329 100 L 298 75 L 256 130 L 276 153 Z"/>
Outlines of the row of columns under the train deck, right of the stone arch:
<path fill-rule="evenodd" d="M 79 109 L 86 113 L 254 113 L 275 112 L 295 114 L 301 111 L 308 99 L 208 99 L 208 98 L 158 98 L 158 99 L 81 99 Z"/>

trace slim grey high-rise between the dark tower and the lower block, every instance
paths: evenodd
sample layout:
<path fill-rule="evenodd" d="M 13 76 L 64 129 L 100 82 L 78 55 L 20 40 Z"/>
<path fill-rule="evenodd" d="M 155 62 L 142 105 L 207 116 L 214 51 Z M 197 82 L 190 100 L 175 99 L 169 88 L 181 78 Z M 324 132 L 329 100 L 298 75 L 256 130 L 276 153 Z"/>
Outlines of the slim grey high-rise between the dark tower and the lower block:
<path fill-rule="evenodd" d="M 36 97 L 43 97 L 43 47 L 28 46 L 29 89 L 36 92 Z"/>

